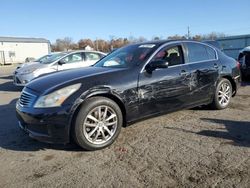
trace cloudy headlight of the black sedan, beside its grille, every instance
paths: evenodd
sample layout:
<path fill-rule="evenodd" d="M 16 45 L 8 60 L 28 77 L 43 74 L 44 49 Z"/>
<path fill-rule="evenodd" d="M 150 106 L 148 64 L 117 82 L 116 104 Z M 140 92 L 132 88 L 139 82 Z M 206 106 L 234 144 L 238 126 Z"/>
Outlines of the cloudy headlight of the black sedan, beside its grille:
<path fill-rule="evenodd" d="M 38 98 L 34 108 L 49 108 L 58 107 L 74 92 L 76 92 L 81 87 L 81 84 L 71 85 L 57 91 L 54 91 L 48 95 L 44 95 Z"/>

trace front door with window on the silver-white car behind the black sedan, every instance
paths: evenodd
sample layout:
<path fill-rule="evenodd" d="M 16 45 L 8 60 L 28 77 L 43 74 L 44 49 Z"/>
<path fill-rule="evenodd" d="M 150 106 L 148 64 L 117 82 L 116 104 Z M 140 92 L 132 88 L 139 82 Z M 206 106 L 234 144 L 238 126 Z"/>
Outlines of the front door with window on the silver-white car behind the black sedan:
<path fill-rule="evenodd" d="M 83 54 L 81 52 L 71 53 L 60 60 L 58 70 L 80 68 L 84 64 Z"/>

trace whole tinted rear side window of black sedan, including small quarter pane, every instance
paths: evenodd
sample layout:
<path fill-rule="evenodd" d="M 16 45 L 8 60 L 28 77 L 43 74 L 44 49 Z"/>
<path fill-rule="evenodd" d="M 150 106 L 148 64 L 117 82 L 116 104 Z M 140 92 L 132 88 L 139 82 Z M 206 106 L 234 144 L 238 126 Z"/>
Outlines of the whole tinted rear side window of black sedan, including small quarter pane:
<path fill-rule="evenodd" d="M 216 59 L 214 49 L 198 43 L 186 43 L 189 63 Z"/>

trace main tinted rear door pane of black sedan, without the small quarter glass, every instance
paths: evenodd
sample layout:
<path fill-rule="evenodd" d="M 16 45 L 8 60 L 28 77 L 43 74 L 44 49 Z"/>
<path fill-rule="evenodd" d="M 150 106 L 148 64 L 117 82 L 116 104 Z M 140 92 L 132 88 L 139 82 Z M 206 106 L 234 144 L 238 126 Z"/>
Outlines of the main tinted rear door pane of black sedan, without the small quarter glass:
<path fill-rule="evenodd" d="M 198 43 L 186 43 L 188 48 L 188 59 L 189 63 L 206 61 L 210 58 L 206 50 L 206 46 Z"/>

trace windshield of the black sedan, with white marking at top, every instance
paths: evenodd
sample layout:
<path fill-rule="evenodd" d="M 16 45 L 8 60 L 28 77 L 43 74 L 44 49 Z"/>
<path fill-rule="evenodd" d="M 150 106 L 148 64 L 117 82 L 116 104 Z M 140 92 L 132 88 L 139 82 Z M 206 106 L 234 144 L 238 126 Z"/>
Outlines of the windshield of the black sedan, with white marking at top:
<path fill-rule="evenodd" d="M 156 44 L 134 44 L 117 49 L 101 59 L 95 67 L 131 67 L 145 62 L 156 50 Z"/>

